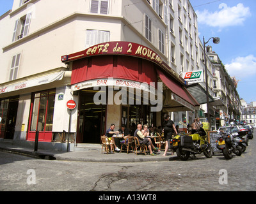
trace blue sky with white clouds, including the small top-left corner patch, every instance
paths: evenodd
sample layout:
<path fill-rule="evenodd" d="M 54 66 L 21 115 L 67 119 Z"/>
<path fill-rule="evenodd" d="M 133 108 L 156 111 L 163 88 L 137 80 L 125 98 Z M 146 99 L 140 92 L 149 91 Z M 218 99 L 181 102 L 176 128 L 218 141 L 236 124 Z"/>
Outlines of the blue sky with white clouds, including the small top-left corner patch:
<path fill-rule="evenodd" d="M 237 92 L 247 103 L 256 101 L 256 1 L 190 0 L 198 16 L 201 41 L 209 41 L 230 77 L 239 80 Z M 12 9 L 13 0 L 0 0 L 0 15 Z"/>

